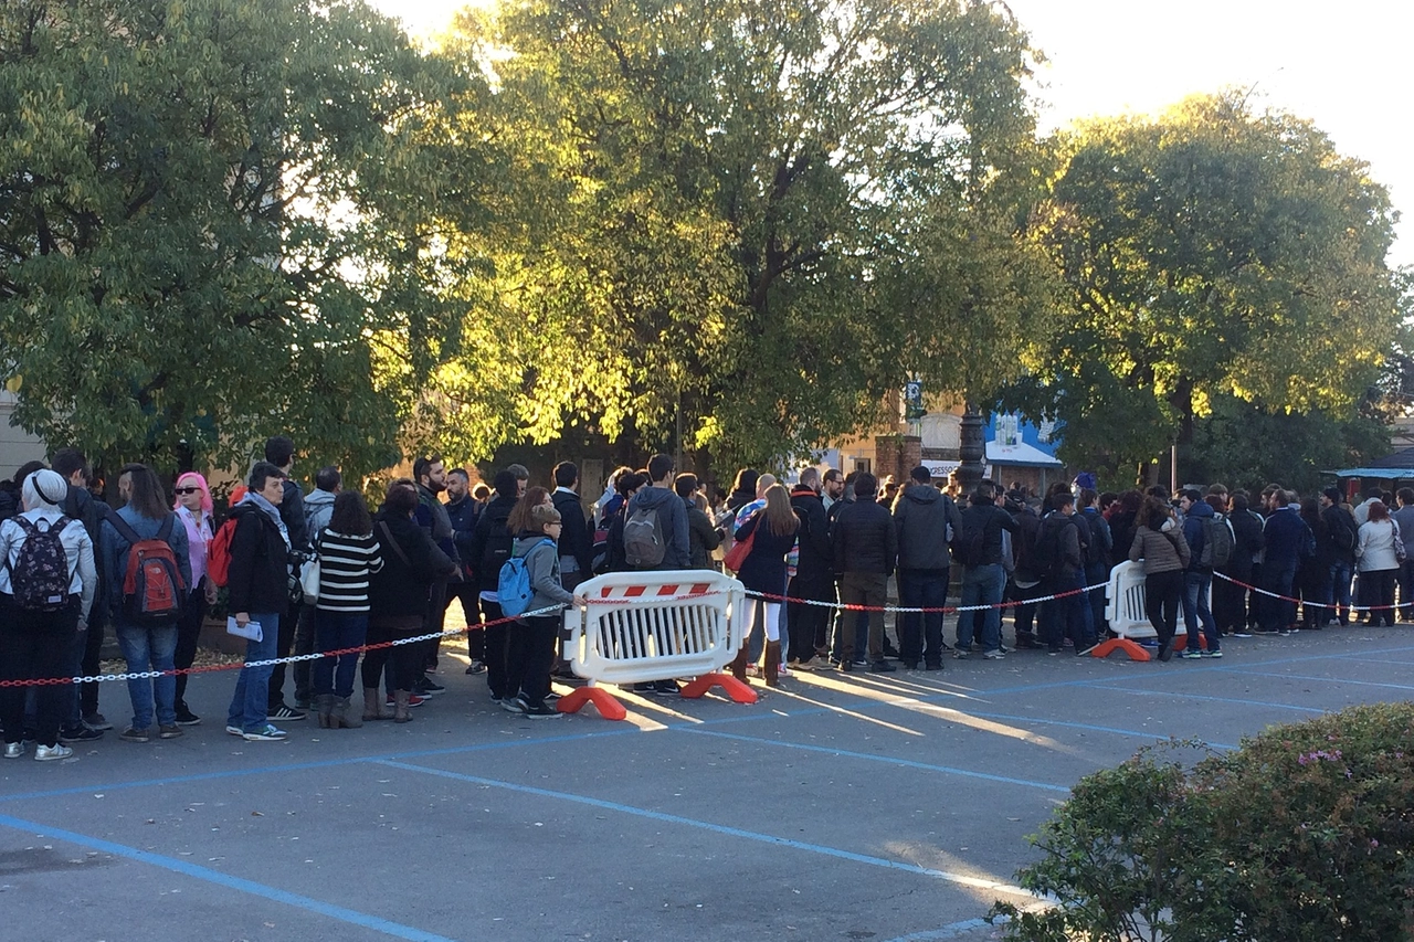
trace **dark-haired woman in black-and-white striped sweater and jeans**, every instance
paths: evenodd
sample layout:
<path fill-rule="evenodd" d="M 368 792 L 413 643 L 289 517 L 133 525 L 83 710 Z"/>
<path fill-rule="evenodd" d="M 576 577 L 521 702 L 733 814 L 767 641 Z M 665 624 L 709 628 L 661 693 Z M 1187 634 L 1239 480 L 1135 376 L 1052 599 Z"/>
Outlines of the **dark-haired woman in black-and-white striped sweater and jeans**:
<path fill-rule="evenodd" d="M 362 494 L 342 491 L 334 498 L 329 525 L 315 536 L 314 547 L 320 554 L 314 644 L 321 652 L 345 652 L 314 662 L 314 702 L 321 728 L 352 730 L 363 721 L 349 707 L 358 652 L 348 649 L 363 646 L 368 638 L 369 580 L 383 569 L 383 554 L 373 539 L 373 521 Z M 376 713 L 376 700 L 373 707 Z"/>

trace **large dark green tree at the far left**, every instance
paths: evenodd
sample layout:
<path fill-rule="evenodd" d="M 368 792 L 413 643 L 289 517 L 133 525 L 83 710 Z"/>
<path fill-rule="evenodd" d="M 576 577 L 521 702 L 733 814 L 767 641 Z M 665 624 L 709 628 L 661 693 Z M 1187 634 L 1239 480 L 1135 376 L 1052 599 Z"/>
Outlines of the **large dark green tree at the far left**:
<path fill-rule="evenodd" d="M 54 444 L 396 458 L 436 354 L 417 140 L 448 76 L 358 1 L 0 7 L 0 361 Z"/>

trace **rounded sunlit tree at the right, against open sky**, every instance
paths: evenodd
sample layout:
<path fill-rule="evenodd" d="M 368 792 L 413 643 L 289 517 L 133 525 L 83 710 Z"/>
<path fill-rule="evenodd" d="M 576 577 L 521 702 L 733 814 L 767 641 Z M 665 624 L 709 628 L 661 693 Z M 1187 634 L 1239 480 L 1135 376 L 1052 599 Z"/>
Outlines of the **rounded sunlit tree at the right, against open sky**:
<path fill-rule="evenodd" d="M 1394 212 L 1363 163 L 1234 95 L 1055 146 L 1044 231 L 1066 304 L 1007 400 L 1059 417 L 1065 457 L 1144 465 L 1223 396 L 1353 414 L 1400 322 Z"/>

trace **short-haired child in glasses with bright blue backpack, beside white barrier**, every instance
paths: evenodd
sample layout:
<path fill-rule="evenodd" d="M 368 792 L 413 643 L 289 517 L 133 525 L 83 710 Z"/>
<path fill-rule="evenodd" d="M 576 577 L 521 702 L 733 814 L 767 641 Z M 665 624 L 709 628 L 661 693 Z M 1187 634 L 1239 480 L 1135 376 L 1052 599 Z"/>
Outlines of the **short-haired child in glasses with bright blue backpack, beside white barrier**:
<path fill-rule="evenodd" d="M 498 597 L 508 615 L 550 608 L 583 605 L 584 598 L 560 584 L 560 530 L 564 526 L 553 505 L 536 504 L 526 513 L 525 526 L 501 569 Z M 502 709 L 523 713 L 532 720 L 550 720 L 560 713 L 544 702 L 550 693 L 550 668 L 554 666 L 554 642 L 563 618 L 559 611 L 529 615 L 510 625 L 506 655 L 506 690 Z"/>

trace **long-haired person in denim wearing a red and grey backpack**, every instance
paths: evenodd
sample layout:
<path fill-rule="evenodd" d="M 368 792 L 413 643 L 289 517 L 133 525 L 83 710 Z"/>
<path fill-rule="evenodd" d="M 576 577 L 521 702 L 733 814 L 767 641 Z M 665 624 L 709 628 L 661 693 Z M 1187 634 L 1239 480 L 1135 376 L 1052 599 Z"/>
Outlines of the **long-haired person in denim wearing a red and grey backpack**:
<path fill-rule="evenodd" d="M 167 509 L 157 472 L 146 464 L 126 465 L 117 491 L 127 504 L 110 512 L 99 530 L 117 644 L 132 673 L 175 670 L 177 625 L 191 587 L 187 528 Z M 133 723 L 119 738 L 147 743 L 154 734 L 164 740 L 182 734 L 175 675 L 129 680 L 127 693 Z"/>

